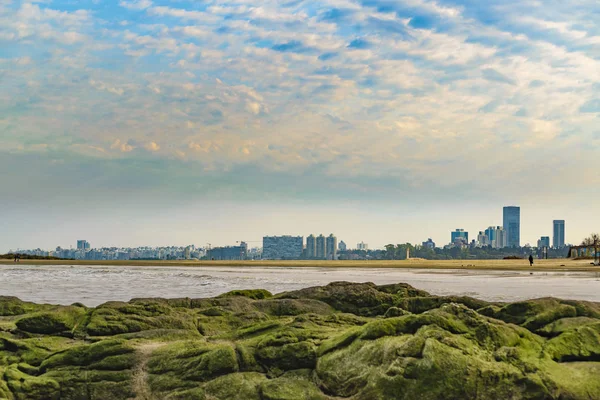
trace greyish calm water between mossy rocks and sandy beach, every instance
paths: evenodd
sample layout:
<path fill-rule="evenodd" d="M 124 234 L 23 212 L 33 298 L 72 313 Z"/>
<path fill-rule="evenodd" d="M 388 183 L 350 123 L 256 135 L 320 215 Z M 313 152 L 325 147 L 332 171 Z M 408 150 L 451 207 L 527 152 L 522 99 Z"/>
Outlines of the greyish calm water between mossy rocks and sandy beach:
<path fill-rule="evenodd" d="M 600 272 L 390 268 L 0 266 L 0 295 L 36 303 L 96 306 L 135 297 L 213 297 L 233 289 L 272 293 L 334 281 L 406 282 L 436 295 L 490 301 L 553 296 L 600 302 Z"/>

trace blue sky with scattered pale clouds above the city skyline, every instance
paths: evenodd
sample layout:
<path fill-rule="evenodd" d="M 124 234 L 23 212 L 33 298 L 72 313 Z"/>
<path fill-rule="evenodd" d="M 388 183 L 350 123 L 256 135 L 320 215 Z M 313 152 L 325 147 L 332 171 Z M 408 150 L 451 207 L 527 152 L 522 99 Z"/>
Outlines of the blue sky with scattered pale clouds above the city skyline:
<path fill-rule="evenodd" d="M 0 251 L 600 230 L 596 0 L 0 0 Z"/>

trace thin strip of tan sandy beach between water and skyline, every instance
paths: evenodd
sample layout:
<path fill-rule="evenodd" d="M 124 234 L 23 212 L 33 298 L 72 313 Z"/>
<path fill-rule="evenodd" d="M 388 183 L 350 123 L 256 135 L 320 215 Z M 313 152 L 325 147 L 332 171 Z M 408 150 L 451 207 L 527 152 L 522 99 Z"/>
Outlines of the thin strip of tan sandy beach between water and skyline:
<path fill-rule="evenodd" d="M 496 270 L 496 271 L 554 271 L 600 272 L 591 260 L 550 259 L 535 260 L 532 267 L 527 260 L 247 260 L 247 261 L 117 261 L 117 260 L 0 260 L 0 266 L 122 266 L 122 267 L 278 267 L 278 268 L 390 268 L 431 270 Z"/>

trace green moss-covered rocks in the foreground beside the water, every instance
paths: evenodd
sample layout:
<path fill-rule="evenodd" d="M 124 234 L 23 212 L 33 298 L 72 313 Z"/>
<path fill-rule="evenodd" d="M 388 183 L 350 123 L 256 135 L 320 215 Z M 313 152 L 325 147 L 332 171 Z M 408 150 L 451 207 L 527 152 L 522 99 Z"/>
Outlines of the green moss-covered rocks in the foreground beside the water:
<path fill-rule="evenodd" d="M 600 304 L 407 284 L 134 299 L 0 297 L 2 399 L 600 399 Z"/>

